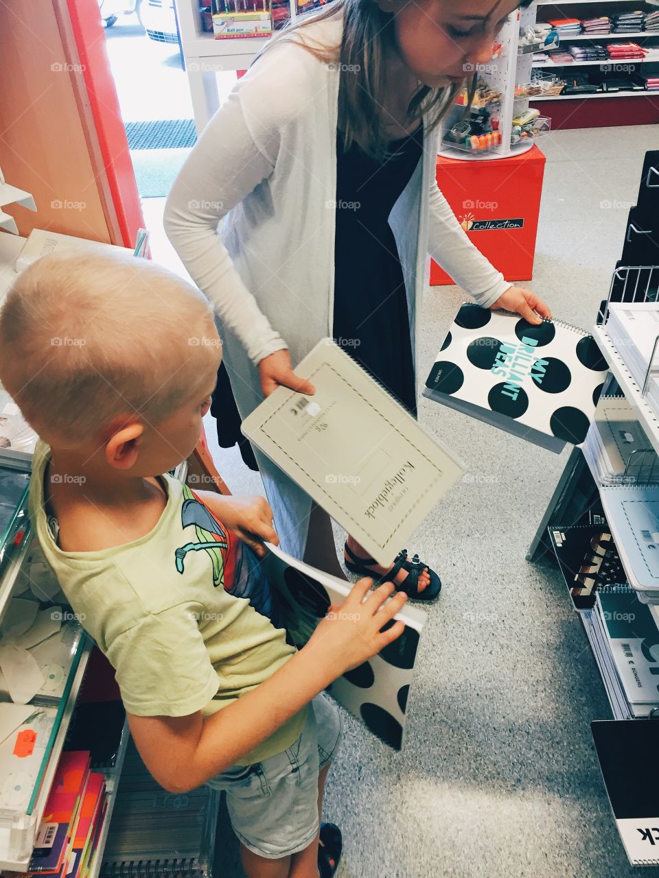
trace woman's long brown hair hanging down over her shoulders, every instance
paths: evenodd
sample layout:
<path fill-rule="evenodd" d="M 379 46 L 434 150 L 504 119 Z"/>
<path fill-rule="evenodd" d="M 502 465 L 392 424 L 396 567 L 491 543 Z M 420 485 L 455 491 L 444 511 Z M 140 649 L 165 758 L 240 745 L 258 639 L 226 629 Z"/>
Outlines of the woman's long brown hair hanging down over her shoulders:
<path fill-rule="evenodd" d="M 531 2 L 522 0 L 520 5 Z M 396 3 L 402 5 L 409 0 L 393 0 L 389 5 Z M 324 46 L 304 33 L 312 22 L 342 13 L 344 32 L 340 45 Z M 319 61 L 340 65 L 338 127 L 344 134 L 344 148 L 357 144 L 366 155 L 379 159 L 387 155 L 391 140 L 382 108 L 387 90 L 391 88 L 387 83 L 386 53 L 394 46 L 394 16 L 393 11 L 383 11 L 377 0 L 331 0 L 321 11 L 312 10 L 299 16 L 275 38 L 294 40 Z M 466 112 L 474 97 L 478 74 L 466 75 L 467 79 L 470 82 Z M 416 123 L 422 120 L 426 131 L 438 126 L 463 88 L 463 83 L 439 89 L 420 85 L 409 102 L 407 127 L 416 128 Z"/>

